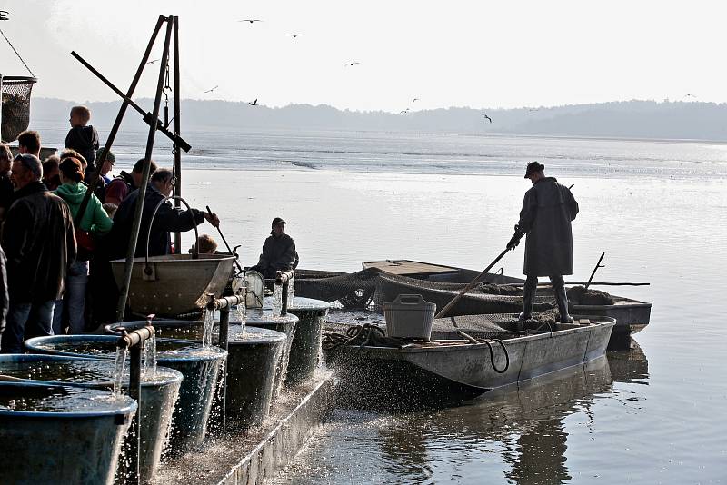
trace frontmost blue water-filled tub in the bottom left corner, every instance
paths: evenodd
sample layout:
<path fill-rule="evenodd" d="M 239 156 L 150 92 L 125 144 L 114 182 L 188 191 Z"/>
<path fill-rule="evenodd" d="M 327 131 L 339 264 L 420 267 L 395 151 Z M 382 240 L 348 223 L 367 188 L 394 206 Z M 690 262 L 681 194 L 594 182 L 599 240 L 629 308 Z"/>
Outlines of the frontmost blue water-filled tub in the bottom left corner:
<path fill-rule="evenodd" d="M 108 391 L 0 382 L 0 483 L 111 485 L 135 411 Z"/>

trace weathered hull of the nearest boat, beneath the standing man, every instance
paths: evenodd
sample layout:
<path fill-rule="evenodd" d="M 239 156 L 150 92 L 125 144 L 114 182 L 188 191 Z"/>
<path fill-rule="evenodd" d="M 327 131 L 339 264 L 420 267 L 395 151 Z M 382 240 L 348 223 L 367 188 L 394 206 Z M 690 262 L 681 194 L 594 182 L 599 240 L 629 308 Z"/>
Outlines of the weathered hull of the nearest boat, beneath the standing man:
<path fill-rule="evenodd" d="M 345 386 L 370 401 L 444 403 L 602 357 L 615 321 L 581 317 L 498 341 L 439 340 L 402 348 L 342 345 L 325 353 Z M 505 331 L 505 329 L 503 329 Z M 349 393 L 350 395 L 350 393 Z"/>

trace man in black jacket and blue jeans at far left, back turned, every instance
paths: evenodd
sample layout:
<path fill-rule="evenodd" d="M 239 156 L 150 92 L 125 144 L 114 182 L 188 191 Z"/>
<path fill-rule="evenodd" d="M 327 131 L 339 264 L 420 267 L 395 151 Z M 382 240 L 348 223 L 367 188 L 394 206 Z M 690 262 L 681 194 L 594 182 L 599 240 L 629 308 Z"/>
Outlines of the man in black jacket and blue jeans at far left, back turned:
<path fill-rule="evenodd" d="M 22 352 L 27 338 L 53 335 L 54 302 L 63 296 L 65 275 L 76 254 L 71 211 L 40 181 L 40 160 L 17 155 L 12 173 L 15 202 L 5 216 L 2 237 L 10 297 L 0 342 L 3 353 Z"/>

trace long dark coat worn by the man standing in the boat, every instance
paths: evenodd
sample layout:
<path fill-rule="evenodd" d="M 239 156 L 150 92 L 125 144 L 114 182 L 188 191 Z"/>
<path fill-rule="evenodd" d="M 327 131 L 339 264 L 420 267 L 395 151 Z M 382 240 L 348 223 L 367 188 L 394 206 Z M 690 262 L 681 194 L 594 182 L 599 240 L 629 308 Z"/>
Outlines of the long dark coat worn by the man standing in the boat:
<path fill-rule="evenodd" d="M 533 184 L 525 193 L 518 226 L 527 234 L 523 273 L 529 276 L 573 274 L 571 221 L 578 203 L 553 177 Z"/>

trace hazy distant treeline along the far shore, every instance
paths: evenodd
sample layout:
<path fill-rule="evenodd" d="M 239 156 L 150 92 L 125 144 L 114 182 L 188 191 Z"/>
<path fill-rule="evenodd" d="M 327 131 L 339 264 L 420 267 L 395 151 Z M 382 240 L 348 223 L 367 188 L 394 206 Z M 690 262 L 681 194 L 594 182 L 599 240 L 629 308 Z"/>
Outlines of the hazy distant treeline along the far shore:
<path fill-rule="evenodd" d="M 137 103 L 149 111 L 153 106 L 151 99 L 139 99 Z M 34 98 L 31 120 L 58 120 L 64 124 L 73 104 Z M 92 124 L 106 131 L 114 123 L 120 102 L 86 105 L 93 113 Z M 483 114 L 493 122 L 489 123 Z M 304 129 L 727 141 L 727 104 L 623 101 L 518 109 L 451 107 L 392 114 L 341 111 L 325 104 L 268 108 L 244 102 L 183 100 L 182 123 L 185 130 Z M 124 127 L 143 128 L 141 116 L 129 108 Z"/>

